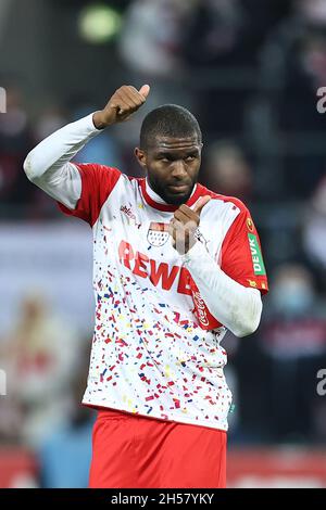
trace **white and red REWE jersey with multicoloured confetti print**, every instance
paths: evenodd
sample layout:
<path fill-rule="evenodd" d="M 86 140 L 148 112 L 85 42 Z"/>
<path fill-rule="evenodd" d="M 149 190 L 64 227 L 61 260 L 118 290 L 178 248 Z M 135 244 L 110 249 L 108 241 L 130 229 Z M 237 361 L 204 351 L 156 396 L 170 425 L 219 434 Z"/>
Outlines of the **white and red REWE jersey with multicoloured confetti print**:
<path fill-rule="evenodd" d="M 82 196 L 73 211 L 60 207 L 93 231 L 96 324 L 83 403 L 227 430 L 226 328 L 172 245 L 167 226 L 177 207 L 155 202 L 146 179 L 101 165 L 77 167 Z M 248 209 L 199 183 L 187 205 L 206 194 L 201 242 L 230 278 L 266 292 Z"/>

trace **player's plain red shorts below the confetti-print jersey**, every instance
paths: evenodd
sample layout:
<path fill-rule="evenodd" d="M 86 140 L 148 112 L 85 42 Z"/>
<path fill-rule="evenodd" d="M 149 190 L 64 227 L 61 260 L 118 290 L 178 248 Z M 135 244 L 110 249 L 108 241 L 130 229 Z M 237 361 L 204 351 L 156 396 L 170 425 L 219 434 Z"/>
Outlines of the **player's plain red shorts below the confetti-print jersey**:
<path fill-rule="evenodd" d="M 100 410 L 89 487 L 223 488 L 226 432 Z"/>

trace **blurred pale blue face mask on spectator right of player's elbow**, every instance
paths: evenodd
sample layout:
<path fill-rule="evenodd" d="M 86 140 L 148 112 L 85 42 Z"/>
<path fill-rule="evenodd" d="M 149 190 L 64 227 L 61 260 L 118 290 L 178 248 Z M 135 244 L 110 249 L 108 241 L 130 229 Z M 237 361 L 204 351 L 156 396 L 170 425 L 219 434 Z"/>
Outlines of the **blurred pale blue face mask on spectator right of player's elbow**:
<path fill-rule="evenodd" d="M 300 315 L 308 311 L 314 301 L 312 288 L 301 280 L 279 283 L 273 291 L 273 301 L 279 311 Z"/>

